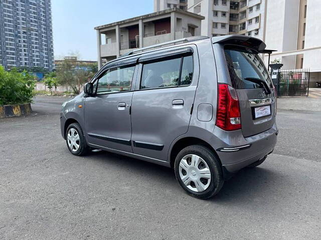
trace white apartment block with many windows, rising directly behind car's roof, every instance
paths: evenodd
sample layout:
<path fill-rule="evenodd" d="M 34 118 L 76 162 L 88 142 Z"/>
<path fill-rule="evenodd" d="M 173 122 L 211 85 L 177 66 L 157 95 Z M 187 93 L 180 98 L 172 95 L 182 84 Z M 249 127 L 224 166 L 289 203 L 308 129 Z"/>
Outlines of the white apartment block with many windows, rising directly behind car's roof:
<path fill-rule="evenodd" d="M 175 0 L 154 0 L 154 9 Z M 182 2 L 182 0 L 177 0 Z M 264 40 L 266 0 L 184 0 L 187 10 L 205 16 L 202 35 L 244 34 Z"/>

